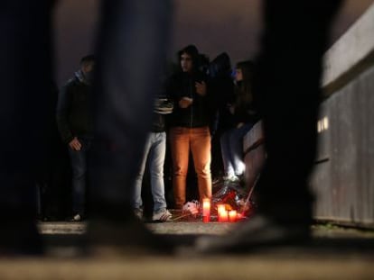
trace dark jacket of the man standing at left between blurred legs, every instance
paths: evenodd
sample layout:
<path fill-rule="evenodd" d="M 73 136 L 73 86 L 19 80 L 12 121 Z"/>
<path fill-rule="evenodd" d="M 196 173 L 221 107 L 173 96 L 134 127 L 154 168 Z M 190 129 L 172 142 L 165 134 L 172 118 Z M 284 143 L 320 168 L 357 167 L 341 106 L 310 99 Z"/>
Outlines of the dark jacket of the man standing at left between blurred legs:
<path fill-rule="evenodd" d="M 92 86 L 80 71 L 62 86 L 57 105 L 57 125 L 65 143 L 74 137 L 92 137 L 91 91 Z"/>

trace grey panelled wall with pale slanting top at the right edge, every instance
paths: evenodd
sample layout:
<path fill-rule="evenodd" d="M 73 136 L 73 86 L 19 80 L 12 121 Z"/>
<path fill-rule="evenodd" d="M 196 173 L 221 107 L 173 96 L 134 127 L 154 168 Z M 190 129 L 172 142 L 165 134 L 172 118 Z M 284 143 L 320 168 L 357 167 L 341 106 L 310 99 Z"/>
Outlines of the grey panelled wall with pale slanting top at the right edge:
<path fill-rule="evenodd" d="M 315 218 L 374 227 L 374 5 L 324 56 Z"/>

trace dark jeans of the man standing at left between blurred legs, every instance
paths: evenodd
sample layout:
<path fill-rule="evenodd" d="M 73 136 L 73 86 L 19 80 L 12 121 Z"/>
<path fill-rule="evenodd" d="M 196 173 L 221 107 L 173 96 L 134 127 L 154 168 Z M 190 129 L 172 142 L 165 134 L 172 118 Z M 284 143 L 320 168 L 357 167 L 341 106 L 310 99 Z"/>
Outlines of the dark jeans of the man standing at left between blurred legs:
<path fill-rule="evenodd" d="M 72 169 L 72 212 L 73 214 L 85 214 L 87 156 L 91 146 L 91 140 L 79 138 L 82 145 L 80 150 L 70 149 Z"/>

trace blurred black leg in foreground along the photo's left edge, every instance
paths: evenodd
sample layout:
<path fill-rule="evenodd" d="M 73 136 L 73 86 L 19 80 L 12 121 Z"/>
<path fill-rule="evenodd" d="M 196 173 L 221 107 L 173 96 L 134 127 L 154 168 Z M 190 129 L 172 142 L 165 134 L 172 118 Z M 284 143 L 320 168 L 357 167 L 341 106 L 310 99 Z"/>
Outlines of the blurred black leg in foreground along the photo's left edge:
<path fill-rule="evenodd" d="M 53 1 L 5 0 L 0 9 L 0 253 L 39 253 L 35 179 L 44 169 L 51 94 Z"/>

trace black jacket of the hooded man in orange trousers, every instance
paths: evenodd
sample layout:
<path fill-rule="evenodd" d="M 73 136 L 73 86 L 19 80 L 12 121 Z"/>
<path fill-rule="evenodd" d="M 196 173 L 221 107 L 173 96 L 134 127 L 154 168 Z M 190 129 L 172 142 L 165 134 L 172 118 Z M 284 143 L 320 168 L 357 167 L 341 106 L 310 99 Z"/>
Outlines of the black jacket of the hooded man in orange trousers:
<path fill-rule="evenodd" d="M 206 76 L 201 72 L 188 74 L 178 72 L 169 81 L 168 94 L 173 100 L 174 109 L 170 116 L 170 126 L 182 126 L 188 128 L 204 127 L 210 125 L 209 90 L 204 96 L 196 93 L 196 82 L 206 82 Z M 182 97 L 190 97 L 193 103 L 188 108 L 181 108 L 179 101 Z"/>

